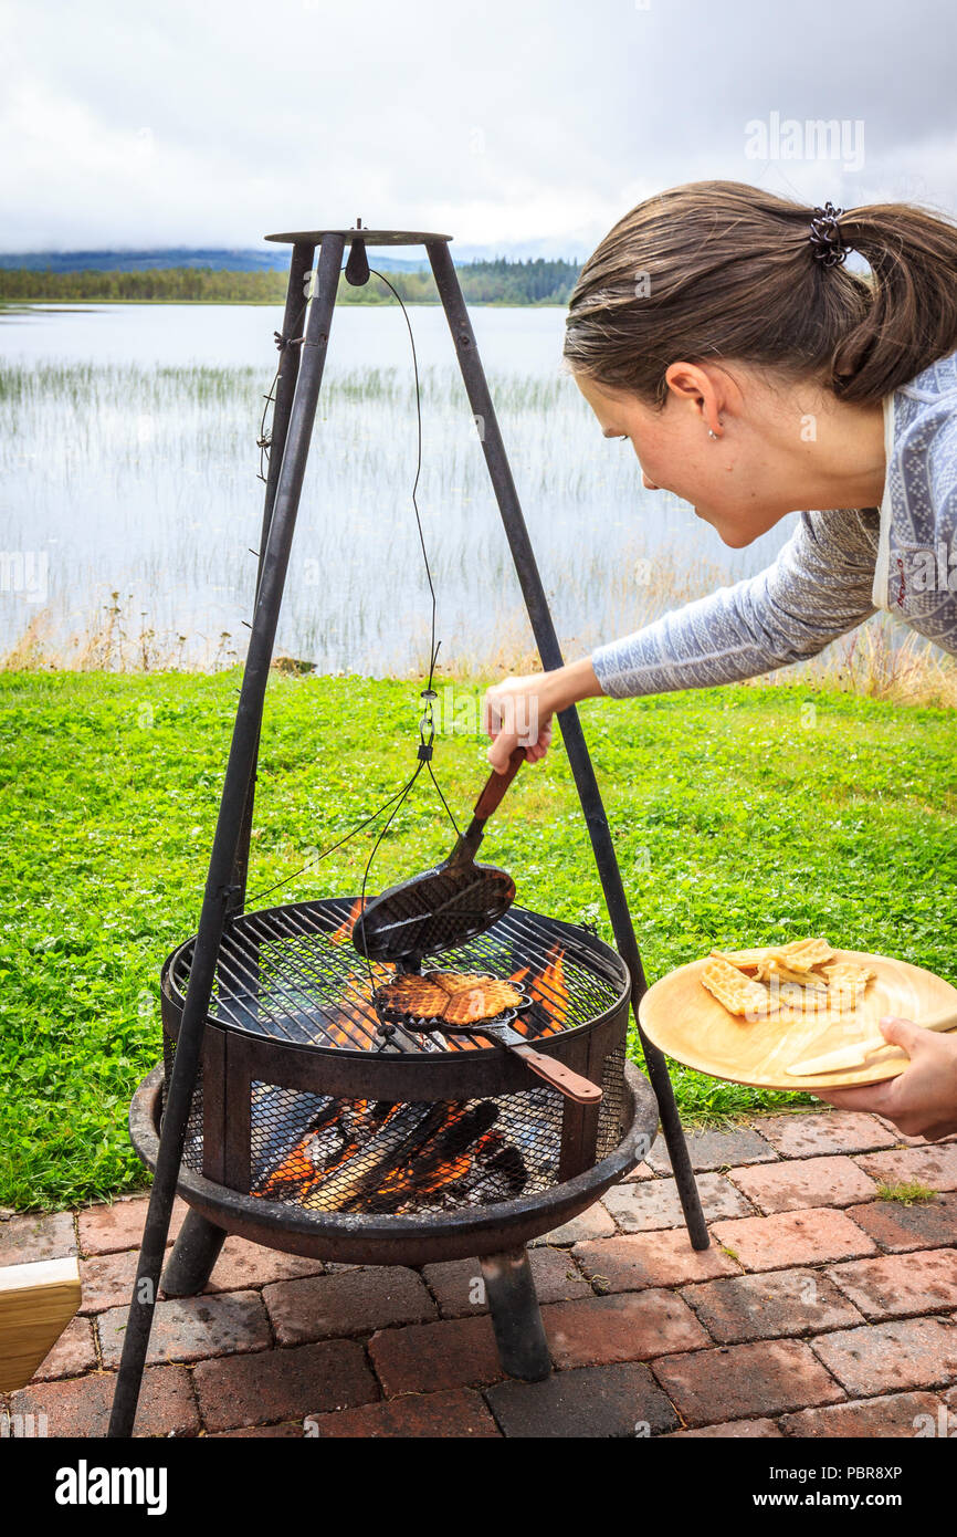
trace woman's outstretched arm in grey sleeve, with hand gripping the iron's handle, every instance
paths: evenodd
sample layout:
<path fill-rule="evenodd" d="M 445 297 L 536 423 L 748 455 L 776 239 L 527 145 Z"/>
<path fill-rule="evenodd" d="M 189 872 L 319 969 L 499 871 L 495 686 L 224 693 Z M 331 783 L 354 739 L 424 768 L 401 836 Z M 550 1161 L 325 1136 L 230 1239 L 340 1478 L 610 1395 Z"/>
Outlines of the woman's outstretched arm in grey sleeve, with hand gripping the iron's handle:
<path fill-rule="evenodd" d="M 547 673 L 505 678 L 485 695 L 488 762 L 504 770 L 518 742 L 535 762 L 551 742 L 551 716 L 614 698 L 707 689 L 814 656 L 871 613 L 877 512 L 805 512 L 768 570 L 722 587 L 593 656 Z"/>

